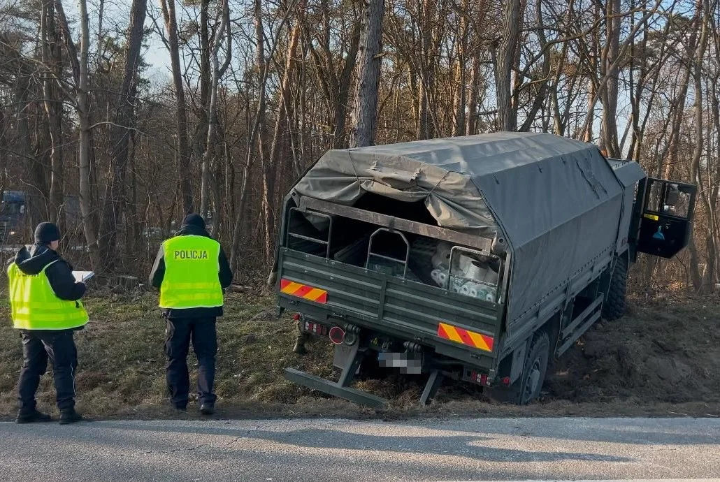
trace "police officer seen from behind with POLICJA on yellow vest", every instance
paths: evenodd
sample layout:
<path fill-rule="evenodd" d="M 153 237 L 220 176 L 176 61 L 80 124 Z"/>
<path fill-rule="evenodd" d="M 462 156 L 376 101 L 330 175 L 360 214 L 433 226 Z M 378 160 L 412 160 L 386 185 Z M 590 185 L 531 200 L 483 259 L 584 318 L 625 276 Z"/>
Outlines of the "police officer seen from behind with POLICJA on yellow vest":
<path fill-rule="evenodd" d="M 215 319 L 222 316 L 222 289 L 230 286 L 233 272 L 228 258 L 205 229 L 199 214 L 188 214 L 175 237 L 158 251 L 150 283 L 160 289 L 160 307 L 166 317 L 166 378 L 170 399 L 178 410 L 186 410 L 190 381 L 187 353 L 197 356 L 197 399 L 200 412 L 215 412 Z"/>

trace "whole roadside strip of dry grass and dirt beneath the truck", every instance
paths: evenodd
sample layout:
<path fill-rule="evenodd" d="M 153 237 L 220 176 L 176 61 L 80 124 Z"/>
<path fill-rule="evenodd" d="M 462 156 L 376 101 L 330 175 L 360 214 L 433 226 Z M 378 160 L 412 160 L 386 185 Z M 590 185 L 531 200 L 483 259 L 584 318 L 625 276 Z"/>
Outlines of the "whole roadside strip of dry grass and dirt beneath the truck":
<path fill-rule="evenodd" d="M 0 419 L 8 419 L 16 409 L 15 383 L 22 350 L 19 335 L 10 327 L 6 296 L 0 296 Z M 76 336 L 78 409 L 89 417 L 104 419 L 178 417 L 164 396 L 164 324 L 156 296 L 104 296 L 88 299 L 86 306 L 92 321 Z M 527 407 L 492 405 L 483 400 L 479 388 L 446 383 L 438 394 L 440 403 L 421 409 L 417 400 L 422 379 L 395 376 L 359 382 L 359 388 L 391 400 L 389 410 L 377 412 L 286 381 L 282 373 L 287 367 L 332 378 L 335 370 L 330 344 L 309 342 L 309 355 L 294 355 L 292 320 L 275 319 L 273 299 L 231 294 L 227 314 L 219 319 L 217 330 L 218 417 L 720 416 L 720 385 L 716 385 L 719 378 L 714 373 L 719 363 L 716 334 L 720 332 L 720 306 L 707 300 L 675 301 L 672 305 L 654 301 L 642 309 L 635 304 L 633 311 L 634 316 L 616 322 L 616 328 L 600 324 L 588 333 L 567 359 L 558 363 L 540 403 Z M 665 339 L 674 333 L 678 350 L 669 350 L 662 343 L 658 347 L 654 342 L 657 333 L 664 333 Z M 588 342 L 594 344 L 593 353 L 588 353 Z M 618 357 L 626 350 L 625 345 L 634 350 L 634 358 Z M 639 347 L 650 351 L 637 353 Z M 654 373 L 649 370 L 654 365 L 647 360 L 657 362 L 658 357 L 684 360 L 696 368 L 687 396 L 678 396 L 683 393 L 682 380 L 666 391 L 662 390 L 665 382 L 652 378 Z M 191 354 L 192 371 L 193 363 Z M 634 363 L 630 367 L 633 376 L 626 380 L 630 383 L 618 383 L 618 369 L 626 371 L 628 363 Z M 42 408 L 53 411 L 54 397 L 48 374 L 38 390 Z M 189 410 L 186 417 L 197 417 L 197 411 Z"/>

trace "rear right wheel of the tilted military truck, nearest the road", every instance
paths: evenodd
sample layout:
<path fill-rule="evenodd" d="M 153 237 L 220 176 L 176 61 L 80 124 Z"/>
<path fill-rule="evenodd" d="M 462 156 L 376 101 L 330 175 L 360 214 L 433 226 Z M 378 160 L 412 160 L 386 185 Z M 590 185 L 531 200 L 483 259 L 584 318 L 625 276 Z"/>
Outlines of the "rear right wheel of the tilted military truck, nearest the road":
<path fill-rule="evenodd" d="M 517 405 L 530 404 L 540 395 L 549 359 L 550 338 L 546 332 L 536 333 L 525 357 L 523 375 L 508 388 L 492 388 L 488 394 L 490 400 Z"/>

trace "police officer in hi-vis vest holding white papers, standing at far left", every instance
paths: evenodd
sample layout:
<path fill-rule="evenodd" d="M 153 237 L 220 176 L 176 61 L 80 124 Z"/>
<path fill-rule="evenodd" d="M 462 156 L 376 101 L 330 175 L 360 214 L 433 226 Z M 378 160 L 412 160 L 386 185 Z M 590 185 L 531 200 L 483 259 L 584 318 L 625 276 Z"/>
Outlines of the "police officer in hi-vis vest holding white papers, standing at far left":
<path fill-rule="evenodd" d="M 22 335 L 19 424 L 50 421 L 49 415 L 37 410 L 35 400 L 48 358 L 53 364 L 60 424 L 82 419 L 75 411 L 78 353 L 73 332 L 88 322 L 80 302 L 85 284 L 75 281 L 73 268 L 56 252 L 59 244 L 60 229 L 42 222 L 35 229 L 35 244 L 22 247 L 7 268 L 12 321 Z"/>

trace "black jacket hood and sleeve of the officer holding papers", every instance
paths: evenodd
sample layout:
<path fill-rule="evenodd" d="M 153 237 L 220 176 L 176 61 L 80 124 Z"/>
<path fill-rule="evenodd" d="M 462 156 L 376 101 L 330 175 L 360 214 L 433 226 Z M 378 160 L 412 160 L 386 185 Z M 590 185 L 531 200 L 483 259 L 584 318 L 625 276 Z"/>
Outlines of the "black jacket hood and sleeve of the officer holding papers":
<path fill-rule="evenodd" d="M 58 260 L 57 263 L 53 261 Z M 17 252 L 15 258 L 10 260 L 26 275 L 36 275 L 50 263 L 45 275 L 50 281 L 50 288 L 60 299 L 77 301 L 85 294 L 85 283 L 77 283 L 73 276 L 73 267 L 66 260 L 45 245 L 27 245 Z"/>

